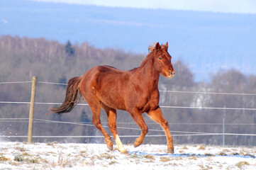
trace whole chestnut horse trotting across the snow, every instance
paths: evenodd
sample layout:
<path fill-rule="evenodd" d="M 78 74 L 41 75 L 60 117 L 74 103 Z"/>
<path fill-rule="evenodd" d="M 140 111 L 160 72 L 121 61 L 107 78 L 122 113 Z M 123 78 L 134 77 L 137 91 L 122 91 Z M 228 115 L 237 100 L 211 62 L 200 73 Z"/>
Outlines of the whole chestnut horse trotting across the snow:
<path fill-rule="evenodd" d="M 118 150 L 126 154 L 126 149 L 116 132 L 116 109 L 128 111 L 141 129 L 141 135 L 135 140 L 134 147 L 140 146 L 148 133 L 148 126 L 142 115 L 147 113 L 165 130 L 168 152 L 174 153 L 169 125 L 163 118 L 158 105 L 160 94 L 157 84 L 160 74 L 167 78 L 174 77 L 172 57 L 167 50 L 168 42 L 166 45 L 160 45 L 157 42 L 155 47 L 149 47 L 149 54 L 140 67 L 126 72 L 110 66 L 97 66 L 89 69 L 83 76 L 69 80 L 65 101 L 58 108 L 50 108 L 50 111 L 57 114 L 72 111 L 83 96 L 91 108 L 92 123 L 104 135 L 108 149 L 113 149 L 113 142 L 101 126 L 101 108 L 106 112 L 108 128 L 116 141 Z"/>

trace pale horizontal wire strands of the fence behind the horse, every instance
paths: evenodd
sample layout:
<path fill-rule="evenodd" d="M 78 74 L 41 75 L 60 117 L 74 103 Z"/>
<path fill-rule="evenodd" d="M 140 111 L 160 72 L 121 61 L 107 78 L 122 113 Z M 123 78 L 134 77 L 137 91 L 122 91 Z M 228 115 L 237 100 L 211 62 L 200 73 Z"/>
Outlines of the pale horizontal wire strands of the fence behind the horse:
<path fill-rule="evenodd" d="M 0 82 L 0 84 L 23 84 L 23 83 L 31 83 L 32 81 L 12 81 L 12 82 Z M 52 82 L 46 82 L 46 81 L 37 81 L 39 84 L 54 84 L 54 85 L 67 85 L 62 83 L 52 83 Z M 256 94 L 237 94 L 237 93 L 219 93 L 219 92 L 211 92 L 211 91 L 167 91 L 167 90 L 160 90 L 162 93 L 182 93 L 182 94 L 211 94 L 211 95 L 233 95 L 233 96 L 256 96 Z M 0 101 L 0 103 L 7 103 L 7 104 L 30 104 L 28 101 Z M 35 104 L 38 105 L 57 105 L 62 103 L 45 103 L 45 102 L 35 102 Z M 88 106 L 87 103 L 79 103 L 78 106 Z M 239 111 L 256 111 L 256 108 L 217 108 L 217 107 L 193 107 L 193 106 L 160 106 L 161 108 L 190 108 L 190 109 L 215 109 L 215 110 L 239 110 Z M 28 123 L 28 118 L 0 118 L 0 122 L 12 122 L 12 123 Z M 83 125 L 83 126 L 93 126 L 92 123 L 84 123 L 84 122 L 63 122 L 63 121 L 55 121 L 55 120 L 43 120 L 43 119 L 34 119 L 33 123 L 64 123 L 69 125 Z M 107 123 L 102 123 L 107 124 Z M 129 127 L 122 127 L 120 125 L 129 125 L 129 124 L 135 124 L 135 123 L 118 123 L 118 129 L 126 129 L 126 130 L 140 130 L 139 128 L 129 128 Z M 148 124 L 148 123 L 147 123 Z M 157 123 L 151 123 L 151 124 L 157 124 Z M 224 127 L 224 123 L 169 123 L 169 125 L 220 125 Z M 225 125 L 252 125 L 255 126 L 256 123 L 225 123 Z M 107 125 L 103 125 L 104 128 L 108 128 Z M 165 132 L 164 130 L 149 130 L 152 132 Z M 240 133 L 214 133 L 214 132 L 191 132 L 191 131 L 170 131 L 180 134 L 172 135 L 174 137 L 187 137 L 187 136 L 207 136 L 207 135 L 232 135 L 232 136 L 252 136 L 255 137 L 256 134 L 240 134 Z M 121 135 L 120 137 L 138 137 L 139 135 Z M 26 138 L 28 136 L 26 135 L 2 135 L 0 137 L 21 137 Z M 101 138 L 103 136 L 33 136 L 35 138 Z M 165 137 L 165 134 L 163 135 L 147 135 L 147 137 Z"/>

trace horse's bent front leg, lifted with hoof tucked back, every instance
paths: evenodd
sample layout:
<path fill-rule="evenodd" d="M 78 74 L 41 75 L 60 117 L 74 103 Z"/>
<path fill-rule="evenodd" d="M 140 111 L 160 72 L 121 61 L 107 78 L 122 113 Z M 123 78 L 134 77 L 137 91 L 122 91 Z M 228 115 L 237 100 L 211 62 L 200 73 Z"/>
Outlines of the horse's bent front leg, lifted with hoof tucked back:
<path fill-rule="evenodd" d="M 143 119 L 143 115 L 140 112 L 138 112 L 138 111 L 130 112 L 129 111 L 129 113 L 132 116 L 135 123 L 137 123 L 137 125 L 140 127 L 140 130 L 141 130 L 140 137 L 138 137 L 134 142 L 134 147 L 138 147 L 141 144 L 143 144 L 145 135 L 148 133 L 148 126 L 146 125 L 146 123 Z"/>

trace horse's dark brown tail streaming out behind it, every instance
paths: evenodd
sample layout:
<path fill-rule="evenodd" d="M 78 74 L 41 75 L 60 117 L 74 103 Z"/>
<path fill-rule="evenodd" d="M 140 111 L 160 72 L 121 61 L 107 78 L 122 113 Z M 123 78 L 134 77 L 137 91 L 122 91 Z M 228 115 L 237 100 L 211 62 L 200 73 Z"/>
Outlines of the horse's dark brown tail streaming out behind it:
<path fill-rule="evenodd" d="M 77 106 L 80 98 L 82 97 L 81 91 L 79 89 L 81 79 L 82 77 L 74 77 L 69 79 L 65 101 L 58 108 L 50 108 L 49 110 L 52 111 L 51 113 L 69 113 L 72 111 L 74 106 Z"/>

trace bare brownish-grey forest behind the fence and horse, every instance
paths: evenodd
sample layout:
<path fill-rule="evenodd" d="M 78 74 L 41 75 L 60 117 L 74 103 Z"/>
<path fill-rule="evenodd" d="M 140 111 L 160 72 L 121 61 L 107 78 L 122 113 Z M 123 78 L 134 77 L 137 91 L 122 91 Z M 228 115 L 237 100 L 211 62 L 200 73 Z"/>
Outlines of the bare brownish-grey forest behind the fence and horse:
<path fill-rule="evenodd" d="M 172 55 L 172 51 L 169 51 Z M 81 76 L 96 65 L 111 65 L 128 70 L 139 67 L 145 55 L 123 52 L 118 49 L 98 49 L 88 42 L 72 45 L 70 42 L 46 40 L 45 38 L 19 38 L 4 35 L 0 37 L 0 83 L 31 81 L 38 77 L 35 102 L 61 103 L 65 98 L 66 84 L 72 77 Z M 221 145 L 221 135 L 179 136 L 194 134 L 188 132 L 222 133 L 225 118 L 226 133 L 256 134 L 256 75 L 245 75 L 237 69 L 219 70 L 212 75 L 211 81 L 196 82 L 186 61 L 176 60 L 172 56 L 175 76 L 173 79 L 160 77 L 160 106 L 181 108 L 162 108 L 162 113 L 169 122 L 174 135 L 174 143 L 204 143 Z M 62 83 L 46 84 L 45 82 Z M 30 101 L 30 83 L 0 84 L 0 101 Z M 201 92 L 201 93 L 191 93 Z M 218 93 L 218 94 L 216 94 Z M 242 95 L 243 94 L 243 95 Z M 81 103 L 85 103 L 82 101 Z M 35 104 L 35 136 L 100 136 L 99 130 L 91 124 L 91 111 L 88 106 L 76 106 L 71 113 L 55 115 L 48 113 L 54 105 Z M 189 107 L 189 108 L 187 108 Z M 196 108 L 193 108 L 196 107 Z M 241 109 L 206 109 L 206 108 L 245 108 Z M 23 136 L 28 132 L 28 104 L 0 103 L 0 136 Z M 143 114 L 148 124 L 145 143 L 165 144 L 165 132 Z M 129 113 L 118 111 L 119 135 L 140 135 L 140 130 Z M 7 120 L 7 118 L 10 118 Z M 19 119 L 13 119 L 19 118 Z M 21 118 L 24 118 L 21 119 Z M 77 123 L 68 124 L 60 122 Z M 85 123 L 85 124 L 82 124 Z M 107 125 L 106 115 L 101 113 L 101 123 Z M 108 128 L 106 128 L 109 132 Z M 151 131 L 152 130 L 152 131 Z M 184 133 L 187 132 L 187 133 Z M 25 141 L 25 138 L 13 137 L 3 140 Z M 132 143 L 135 137 L 123 137 L 124 143 Z M 256 145 L 255 136 L 226 135 L 227 145 Z M 104 142 L 103 138 L 35 138 L 35 142 Z"/>

